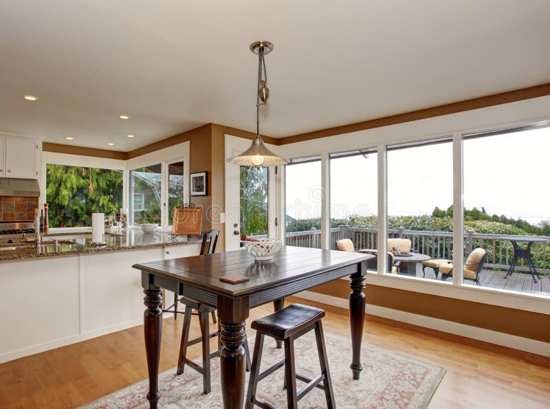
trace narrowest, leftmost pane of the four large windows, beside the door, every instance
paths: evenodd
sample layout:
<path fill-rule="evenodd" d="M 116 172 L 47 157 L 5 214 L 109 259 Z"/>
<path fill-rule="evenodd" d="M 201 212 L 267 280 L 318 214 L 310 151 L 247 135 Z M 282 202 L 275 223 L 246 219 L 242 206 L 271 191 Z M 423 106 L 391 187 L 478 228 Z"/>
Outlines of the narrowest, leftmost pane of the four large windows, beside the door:
<path fill-rule="evenodd" d="M 286 166 L 286 243 L 321 247 L 321 161 Z"/>

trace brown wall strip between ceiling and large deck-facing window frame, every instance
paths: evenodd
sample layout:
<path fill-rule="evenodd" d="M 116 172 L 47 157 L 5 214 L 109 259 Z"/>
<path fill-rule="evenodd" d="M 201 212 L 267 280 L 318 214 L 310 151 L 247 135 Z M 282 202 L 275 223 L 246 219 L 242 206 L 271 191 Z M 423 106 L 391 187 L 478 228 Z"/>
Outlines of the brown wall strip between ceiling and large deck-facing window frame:
<path fill-rule="evenodd" d="M 381 126 L 388 126 L 388 125 L 401 124 L 404 122 L 423 120 L 426 118 L 433 118 L 441 115 L 449 115 L 450 113 L 458 113 L 458 112 L 464 112 L 464 111 L 471 111 L 472 109 L 493 107 L 494 105 L 507 104 L 509 102 L 516 102 L 521 100 L 529 100 L 531 98 L 537 98 L 540 96 L 548 96 L 548 95 L 550 95 L 550 83 L 536 85 L 535 87 L 516 89 L 514 91 L 496 93 L 494 95 L 474 98 L 472 100 L 465 100 L 460 102 L 453 102 L 451 104 L 439 105 L 439 107 L 431 107 L 426 109 L 419 109 L 418 111 L 399 113 L 397 115 L 386 116 L 384 118 L 377 118 L 375 120 L 357 122 L 355 124 L 349 124 L 349 125 L 335 126 L 334 128 L 320 129 L 319 131 L 300 133 L 298 135 L 282 137 L 276 140 L 276 144 L 278 145 L 293 144 L 294 142 L 303 142 L 307 140 L 318 139 L 321 137 L 329 137 L 334 135 L 342 135 L 344 133 L 364 131 L 365 129 L 380 128 Z"/>

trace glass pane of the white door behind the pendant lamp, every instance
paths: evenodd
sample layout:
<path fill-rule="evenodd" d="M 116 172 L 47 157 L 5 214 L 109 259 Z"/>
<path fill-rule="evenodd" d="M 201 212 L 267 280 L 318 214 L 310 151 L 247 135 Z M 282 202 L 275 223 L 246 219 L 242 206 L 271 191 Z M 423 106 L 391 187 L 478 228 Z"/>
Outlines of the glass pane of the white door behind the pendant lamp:
<path fill-rule="evenodd" d="M 267 168 L 241 166 L 241 235 L 267 235 Z"/>

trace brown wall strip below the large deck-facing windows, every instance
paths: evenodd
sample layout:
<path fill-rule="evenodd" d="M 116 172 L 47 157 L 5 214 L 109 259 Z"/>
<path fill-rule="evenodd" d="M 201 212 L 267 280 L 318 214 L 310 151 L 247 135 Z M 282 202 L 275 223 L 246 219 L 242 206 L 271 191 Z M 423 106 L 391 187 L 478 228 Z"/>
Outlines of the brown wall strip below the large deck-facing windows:
<path fill-rule="evenodd" d="M 349 281 L 336 280 L 310 291 L 338 298 L 348 298 Z M 367 285 L 366 302 L 371 305 L 406 311 L 459 322 L 483 329 L 550 342 L 549 316 L 497 305 L 483 304 L 456 298 L 433 296 L 380 285 Z M 367 306 L 366 312 L 369 313 Z"/>

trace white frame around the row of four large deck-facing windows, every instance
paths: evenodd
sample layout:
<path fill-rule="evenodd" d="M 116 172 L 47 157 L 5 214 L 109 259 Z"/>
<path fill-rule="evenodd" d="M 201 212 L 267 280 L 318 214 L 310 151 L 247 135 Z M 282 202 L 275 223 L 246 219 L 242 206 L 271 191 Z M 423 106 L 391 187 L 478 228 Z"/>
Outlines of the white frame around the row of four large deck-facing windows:
<path fill-rule="evenodd" d="M 315 144 L 311 141 L 296 142 L 277 146 L 277 153 L 289 158 L 298 158 L 311 155 L 321 155 L 322 169 L 327 172 L 329 164 L 328 156 L 330 153 L 353 151 L 361 148 L 377 146 L 378 155 L 378 216 L 380 220 L 387 219 L 387 172 L 386 172 L 386 146 L 388 144 L 397 144 L 405 142 L 415 142 L 419 140 L 437 139 L 452 135 L 453 146 L 453 206 L 454 208 L 463 208 L 463 147 L 462 137 L 468 133 L 478 133 L 485 131 L 494 131 L 498 129 L 512 129 L 520 126 L 540 124 L 541 122 L 550 123 L 550 96 L 533 98 L 520 102 L 511 102 L 496 107 L 485 109 L 476 109 L 442 115 L 426 120 L 417 120 L 403 124 L 384 126 L 381 128 L 367 129 L 344 135 L 335 135 L 316 140 Z M 316 149 L 312 151 L 312 147 Z M 278 179 L 278 183 L 284 183 L 284 178 Z M 330 190 L 330 179 L 322 177 L 322 188 L 325 191 Z M 277 191 L 284 192 L 284 186 L 278 187 Z M 285 203 L 285 200 L 278 201 Z M 284 209 L 279 208 L 279 212 L 284 214 Z M 462 248 L 463 236 L 463 214 L 457 212 L 453 219 L 453 245 L 454 248 Z M 327 229 L 327 223 L 322 225 Z M 328 230 L 326 230 L 328 231 Z M 385 252 L 386 243 L 386 223 L 380 223 L 378 226 L 378 237 L 380 240 L 379 249 Z M 325 234 L 327 234 L 325 232 Z M 284 225 L 278 228 L 278 235 L 284 239 Z M 329 248 L 328 243 L 323 242 L 325 248 Z M 454 254 L 454 262 L 461 265 L 463 255 L 461 252 Z M 474 287 L 463 285 L 462 272 L 456 274 L 453 283 L 441 282 L 435 280 L 426 280 L 423 278 L 404 277 L 384 274 L 385 257 L 379 258 L 378 272 L 367 274 L 367 283 L 372 285 L 381 285 L 404 289 L 407 291 L 416 291 L 424 294 L 433 294 L 461 300 L 470 300 L 474 302 L 483 302 L 490 305 L 499 305 L 502 307 L 522 309 L 548 314 L 550 311 L 550 298 L 537 294 L 526 294 L 508 290 L 490 289 L 487 287 Z M 367 287 L 368 288 L 368 287 Z"/>

